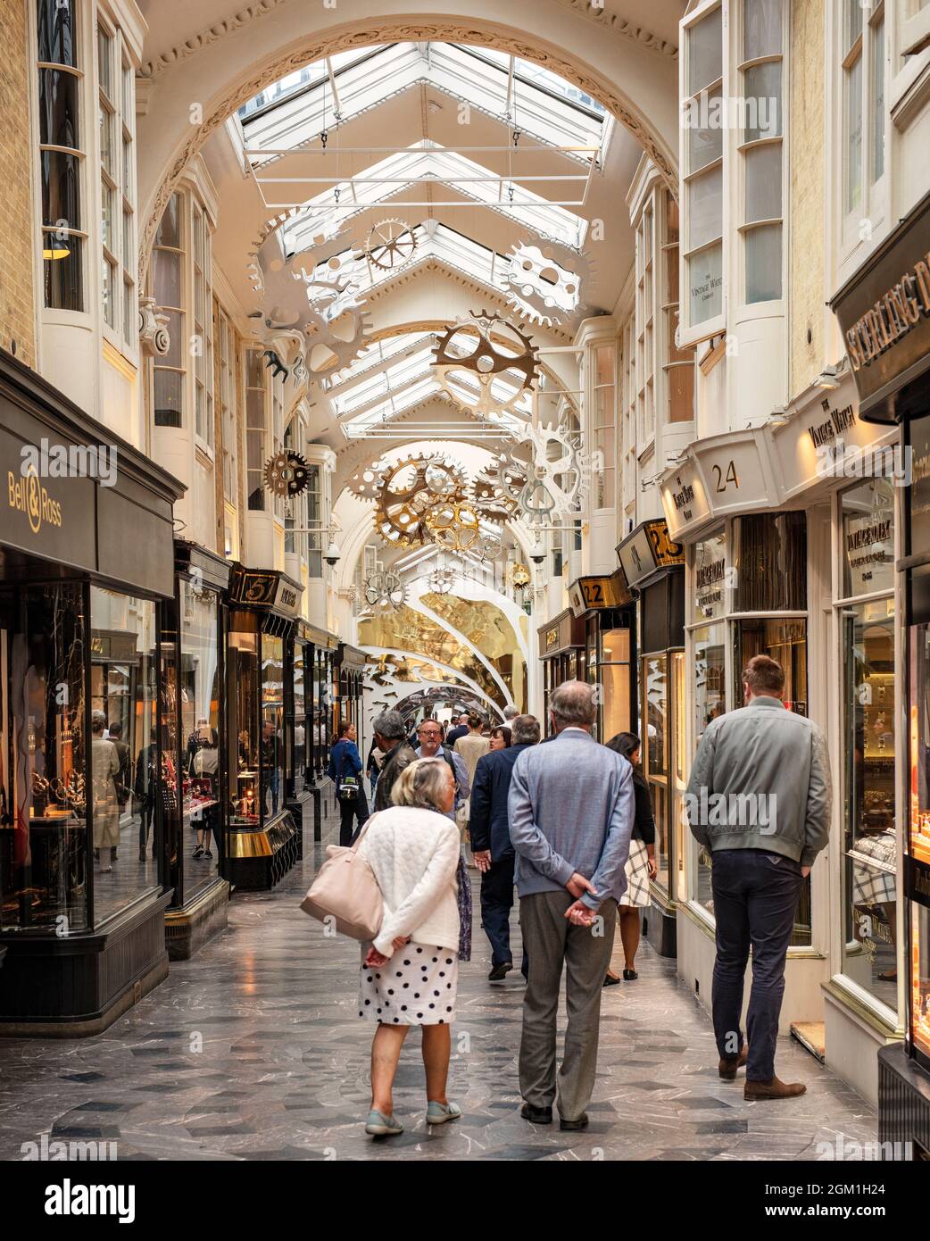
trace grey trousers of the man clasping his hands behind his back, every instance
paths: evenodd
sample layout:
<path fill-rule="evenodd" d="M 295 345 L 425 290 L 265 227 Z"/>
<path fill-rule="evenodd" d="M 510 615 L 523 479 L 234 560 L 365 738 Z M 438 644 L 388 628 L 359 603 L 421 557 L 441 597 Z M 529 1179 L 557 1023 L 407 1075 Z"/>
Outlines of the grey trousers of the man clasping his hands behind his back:
<path fill-rule="evenodd" d="M 558 1071 L 558 1109 L 563 1121 L 577 1121 L 590 1102 L 598 1067 L 600 995 L 610 964 L 616 930 L 616 901 L 600 907 L 599 927 L 573 926 L 565 910 L 569 892 L 536 892 L 520 901 L 520 926 L 529 957 L 520 1041 L 520 1093 L 533 1107 L 556 1100 L 556 1018 L 565 965 L 568 1028 Z"/>

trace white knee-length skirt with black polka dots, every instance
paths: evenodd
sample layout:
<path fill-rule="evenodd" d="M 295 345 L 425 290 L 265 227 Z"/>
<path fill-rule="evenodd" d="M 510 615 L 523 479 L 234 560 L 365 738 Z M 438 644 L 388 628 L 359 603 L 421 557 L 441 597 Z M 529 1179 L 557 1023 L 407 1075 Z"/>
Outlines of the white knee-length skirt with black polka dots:
<path fill-rule="evenodd" d="M 362 946 L 362 961 L 368 947 Z M 362 965 L 358 1016 L 386 1025 L 449 1025 L 458 983 L 458 952 L 410 941 L 386 965 Z"/>

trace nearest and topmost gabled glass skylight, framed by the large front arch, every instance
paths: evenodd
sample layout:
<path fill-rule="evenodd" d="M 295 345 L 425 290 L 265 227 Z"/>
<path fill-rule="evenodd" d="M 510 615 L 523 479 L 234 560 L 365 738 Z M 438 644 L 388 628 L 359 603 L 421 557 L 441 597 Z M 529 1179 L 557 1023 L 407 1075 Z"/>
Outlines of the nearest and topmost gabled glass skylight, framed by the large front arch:
<path fill-rule="evenodd" d="M 331 71 L 331 72 L 330 72 Z M 335 82 L 335 92 L 334 92 Z M 553 146 L 603 148 L 604 108 L 557 74 L 518 57 L 456 43 L 386 43 L 317 61 L 239 109 L 249 148 L 296 148 L 417 83 L 432 83 L 480 112 Z M 594 154 L 594 153 L 593 153 Z M 573 158 L 589 160 L 589 155 Z M 260 158 L 253 156 L 253 163 Z"/>

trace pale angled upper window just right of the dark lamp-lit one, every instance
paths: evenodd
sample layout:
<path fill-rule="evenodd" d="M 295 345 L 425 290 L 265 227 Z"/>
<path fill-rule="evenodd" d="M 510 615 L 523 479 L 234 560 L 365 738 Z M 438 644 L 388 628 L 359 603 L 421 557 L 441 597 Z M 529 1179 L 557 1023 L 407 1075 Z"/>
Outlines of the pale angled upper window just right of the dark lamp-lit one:
<path fill-rule="evenodd" d="M 123 36 L 97 27 L 100 130 L 100 244 L 103 318 L 110 333 L 135 350 L 135 83 Z"/>

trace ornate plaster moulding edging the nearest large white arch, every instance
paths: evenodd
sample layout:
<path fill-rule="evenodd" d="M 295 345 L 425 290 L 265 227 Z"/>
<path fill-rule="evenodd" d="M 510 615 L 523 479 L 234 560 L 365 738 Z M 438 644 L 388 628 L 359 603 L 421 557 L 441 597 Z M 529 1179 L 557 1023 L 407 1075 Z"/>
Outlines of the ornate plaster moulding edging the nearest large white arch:
<path fill-rule="evenodd" d="M 285 0 L 259 0 L 258 4 L 250 5 L 248 10 L 242 10 L 241 14 L 249 12 L 250 10 L 255 10 L 259 14 L 268 12 L 270 9 L 277 7 L 278 4 L 283 2 L 285 2 Z M 241 16 L 241 14 L 237 15 L 237 17 Z M 242 25 L 244 25 L 248 20 L 250 20 L 250 17 L 244 19 Z M 221 27 L 224 25 L 226 24 L 223 22 L 218 24 L 216 27 L 211 27 L 211 32 L 221 30 L 221 34 L 213 35 L 213 38 L 210 40 L 211 42 L 223 36 L 226 31 Z M 227 94 L 212 102 L 210 104 L 210 114 L 205 118 L 201 125 L 191 127 L 190 137 L 182 143 L 167 171 L 162 175 L 161 182 L 155 192 L 149 216 L 145 221 L 145 227 L 141 230 L 139 238 L 140 279 L 144 282 L 148 276 L 149 256 L 151 253 L 155 231 L 165 207 L 167 206 L 169 199 L 177 185 L 177 181 L 184 175 L 184 170 L 193 155 L 196 155 L 203 146 L 210 135 L 226 122 L 227 117 L 252 99 L 270 82 L 277 82 L 279 78 L 286 77 L 288 73 L 296 72 L 311 61 L 321 60 L 325 56 L 335 56 L 337 52 L 350 51 L 352 48 L 368 47 L 371 43 L 391 42 L 392 40 L 403 42 L 423 42 L 430 40 L 434 42 L 451 41 L 458 43 L 474 43 L 480 47 L 495 47 L 503 52 L 512 52 L 515 56 L 542 65 L 553 73 L 558 73 L 560 77 L 574 83 L 574 86 L 590 94 L 593 98 L 599 99 L 604 107 L 608 108 L 620 124 L 622 124 L 640 143 L 646 154 L 652 159 L 656 168 L 660 170 L 660 174 L 662 175 L 662 179 L 670 191 L 677 197 L 677 170 L 672 160 L 660 145 L 657 137 L 652 132 L 647 120 L 632 109 L 630 101 L 619 94 L 613 83 L 605 83 L 593 77 L 587 69 L 579 67 L 574 60 L 569 58 L 569 56 L 563 53 L 560 50 L 541 48 L 534 45 L 531 38 L 525 37 L 523 35 L 508 35 L 481 25 L 466 26 L 448 22 L 412 22 L 393 20 L 382 22 L 377 26 L 363 26 L 351 30 L 346 30 L 343 27 L 341 31 L 330 34 L 325 37 L 316 36 L 308 40 L 298 51 L 291 51 L 286 55 L 267 61 L 260 72 L 255 72 L 246 81 L 241 81 Z M 187 47 L 193 43 L 196 43 L 196 40 L 188 40 L 184 46 Z M 193 51 L 196 50 L 198 48 L 193 47 Z M 192 55 L 192 52 L 190 55 Z"/>

